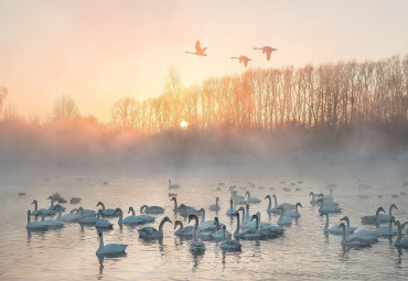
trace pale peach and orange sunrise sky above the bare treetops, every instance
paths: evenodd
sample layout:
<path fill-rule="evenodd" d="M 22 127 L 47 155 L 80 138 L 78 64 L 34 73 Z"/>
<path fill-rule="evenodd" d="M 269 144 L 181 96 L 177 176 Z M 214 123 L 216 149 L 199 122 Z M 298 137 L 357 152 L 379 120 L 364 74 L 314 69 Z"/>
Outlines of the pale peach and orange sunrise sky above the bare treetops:
<path fill-rule="evenodd" d="M 380 60 L 408 52 L 406 0 L 2 0 L 0 86 L 19 115 L 45 117 L 62 95 L 108 122 L 126 96 L 162 94 L 248 67 Z M 207 56 L 194 52 L 195 41 Z M 267 62 L 255 46 L 278 48 Z"/>

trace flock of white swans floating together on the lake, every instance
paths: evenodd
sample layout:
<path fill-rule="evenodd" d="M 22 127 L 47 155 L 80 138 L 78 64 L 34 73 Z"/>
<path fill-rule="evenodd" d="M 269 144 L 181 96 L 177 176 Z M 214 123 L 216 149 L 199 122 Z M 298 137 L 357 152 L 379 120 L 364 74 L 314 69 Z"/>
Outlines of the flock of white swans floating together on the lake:
<path fill-rule="evenodd" d="M 221 186 L 225 186 L 219 183 Z M 179 188 L 180 185 L 172 184 L 169 180 L 169 190 Z M 266 208 L 267 214 L 275 213 L 279 215 L 277 224 L 261 221 L 261 213 L 250 214 L 249 205 L 257 204 L 261 201 L 257 197 L 253 197 L 250 192 L 247 191 L 245 196 L 239 195 L 236 186 L 229 186 L 229 208 L 225 210 L 225 214 L 230 217 L 232 220 L 236 220 L 236 227 L 234 233 L 229 233 L 225 226 L 219 221 L 216 216 L 212 220 L 206 219 L 205 208 L 195 208 L 185 204 L 178 204 L 176 197 L 172 197 L 173 202 L 172 212 L 175 217 L 181 216 L 187 224 L 194 221 L 193 225 L 184 226 L 183 221 L 174 221 L 174 235 L 178 237 L 192 239 L 190 250 L 192 252 L 203 252 L 206 249 L 206 242 L 219 241 L 219 248 L 223 250 L 241 250 L 241 244 L 239 239 L 271 239 L 281 237 L 286 229 L 284 226 L 291 225 L 293 219 L 300 219 L 300 209 L 302 208 L 301 203 L 278 203 L 277 195 L 267 195 L 264 199 L 268 201 Z M 310 192 L 311 197 L 310 204 L 319 206 L 319 214 L 325 216 L 325 225 L 322 229 L 326 235 L 341 235 L 341 245 L 350 247 L 364 247 L 369 246 L 378 241 L 380 236 L 397 236 L 394 245 L 395 247 L 408 248 L 408 238 L 402 237 L 402 229 L 408 221 L 400 223 L 396 220 L 393 215 L 393 209 L 398 209 L 395 204 L 391 204 L 388 208 L 388 213 L 383 207 L 378 207 L 376 213 L 373 215 L 363 216 L 361 218 L 363 225 L 375 225 L 377 230 L 357 230 L 356 227 L 351 226 L 351 219 L 344 216 L 340 219 L 340 224 L 330 227 L 330 215 L 333 213 L 341 213 L 342 208 L 339 207 L 339 203 L 334 201 L 332 190 L 330 195 L 323 193 L 315 194 Z M 36 199 L 32 202 L 34 209 L 28 210 L 28 224 L 26 229 L 29 230 L 44 230 L 52 228 L 64 227 L 65 224 L 78 223 L 82 225 L 95 226 L 98 229 L 99 236 L 99 248 L 96 255 L 111 255 L 125 252 L 128 245 L 121 244 L 109 244 L 104 245 L 103 230 L 112 229 L 114 224 L 105 218 L 116 218 L 119 225 L 144 225 L 155 221 L 157 215 L 165 213 L 165 208 L 161 206 L 148 206 L 142 205 L 140 207 L 140 215 L 136 215 L 133 207 L 128 208 L 128 214 L 131 215 L 124 217 L 121 208 L 106 208 L 103 202 L 98 202 L 96 207 L 99 209 L 86 209 L 78 207 L 72 209 L 68 214 L 64 214 L 66 210 L 61 204 L 54 205 L 53 196 L 47 197 L 51 201 L 49 208 L 39 208 Z M 272 204 L 273 199 L 273 204 Z M 243 205 L 243 206 L 239 206 Z M 238 207 L 239 206 L 239 207 Z M 236 208 L 237 207 L 237 208 Z M 215 198 L 215 204 L 208 207 L 210 210 L 218 212 L 222 209 L 219 206 L 219 197 Z M 50 216 L 57 215 L 55 219 L 47 218 Z M 35 216 L 35 220 L 32 221 L 31 217 Z M 37 220 L 37 217 L 41 220 Z M 169 216 L 164 216 L 159 224 L 159 227 L 143 227 L 138 229 L 139 237 L 141 239 L 161 239 L 163 238 L 163 226 L 165 223 L 172 224 L 173 221 Z M 395 228 L 396 227 L 396 228 Z"/>

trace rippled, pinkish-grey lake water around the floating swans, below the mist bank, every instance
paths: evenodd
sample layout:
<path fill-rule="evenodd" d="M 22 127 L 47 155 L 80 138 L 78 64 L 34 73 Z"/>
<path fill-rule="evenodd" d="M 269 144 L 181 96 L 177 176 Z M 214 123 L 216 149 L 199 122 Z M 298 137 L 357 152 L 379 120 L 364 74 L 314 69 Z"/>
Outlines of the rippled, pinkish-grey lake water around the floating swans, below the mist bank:
<path fill-rule="evenodd" d="M 213 219 L 215 212 L 208 210 L 219 196 L 222 209 L 218 217 L 233 233 L 235 221 L 225 212 L 229 207 L 228 185 L 248 186 L 248 180 L 257 184 L 248 187 L 251 196 L 264 199 L 267 194 L 276 193 L 279 202 L 301 202 L 302 217 L 290 227 L 286 227 L 280 238 L 268 240 L 240 240 L 240 252 L 223 252 L 217 242 L 206 241 L 206 251 L 194 256 L 189 251 L 190 240 L 183 240 L 173 235 L 173 225 L 164 225 L 162 240 L 146 242 L 138 237 L 137 229 L 143 226 L 119 227 L 117 218 L 114 229 L 104 231 L 105 244 L 128 244 L 126 256 L 99 259 L 95 251 L 98 248 L 98 236 L 94 227 L 80 227 L 78 224 L 67 224 L 58 230 L 33 231 L 25 229 L 26 210 L 32 208 L 32 201 L 39 201 L 39 207 L 47 207 L 47 196 L 58 192 L 69 201 L 71 197 L 82 197 L 79 205 L 95 208 L 98 201 L 106 207 L 121 207 L 127 216 L 129 206 L 138 213 L 141 205 L 160 205 L 165 207 L 165 214 L 175 220 L 167 188 L 169 174 L 121 175 L 121 176 L 51 176 L 50 180 L 15 181 L 0 184 L 0 279 L 1 280 L 407 280 L 408 250 L 394 247 L 394 240 L 380 238 L 372 247 L 362 249 L 343 249 L 341 237 L 324 236 L 324 217 L 319 216 L 318 207 L 309 204 L 309 192 L 325 192 L 328 181 L 302 177 L 283 179 L 262 177 L 248 179 L 235 175 L 203 175 L 196 173 L 178 174 L 176 182 L 181 188 L 176 191 L 178 201 L 195 207 L 206 208 L 206 219 Z M 379 177 L 379 176 L 378 176 Z M 380 179 L 380 177 L 379 177 Z M 103 182 L 108 181 L 108 185 Z M 226 186 L 216 191 L 218 182 Z M 297 183 L 290 186 L 290 183 Z M 334 182 L 334 181 L 333 181 Z M 347 215 L 353 226 L 358 229 L 375 229 L 375 226 L 362 226 L 363 215 L 374 214 L 378 206 L 386 210 L 391 203 L 398 206 L 395 213 L 397 219 L 408 219 L 407 196 L 391 198 L 404 188 L 401 182 L 395 180 L 383 185 L 380 180 L 371 182 L 373 190 L 361 191 L 369 195 L 368 199 L 359 199 L 356 180 L 336 181 L 334 198 L 343 212 L 331 216 L 331 225 Z M 264 186 L 265 190 L 259 188 Z M 283 192 L 282 187 L 290 187 Z M 273 191 L 270 191 L 273 187 Z M 300 187 L 300 191 L 296 191 Z M 238 190 L 244 194 L 244 190 Z M 25 192 L 19 197 L 19 192 Z M 384 197 L 378 198 L 378 194 Z M 78 207 L 79 205 L 75 205 Z M 251 204 L 250 212 L 261 212 L 261 219 L 276 224 L 278 216 L 268 216 L 268 202 Z M 74 208 L 69 203 L 68 209 Z M 158 227 L 161 218 L 149 226 Z M 180 219 L 180 217 L 179 217 Z M 182 219 L 182 218 L 181 218 Z M 186 225 L 187 221 L 184 221 Z"/>

